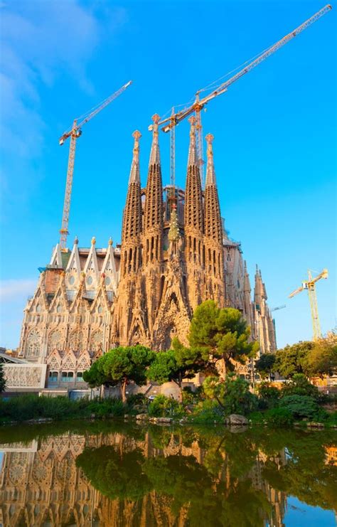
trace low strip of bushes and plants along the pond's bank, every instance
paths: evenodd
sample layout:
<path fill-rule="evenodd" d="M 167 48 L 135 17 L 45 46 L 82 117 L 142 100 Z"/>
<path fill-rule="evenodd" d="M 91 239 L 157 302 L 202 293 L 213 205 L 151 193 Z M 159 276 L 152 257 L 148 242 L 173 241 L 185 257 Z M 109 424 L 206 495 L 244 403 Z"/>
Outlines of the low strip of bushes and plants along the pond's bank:
<path fill-rule="evenodd" d="M 329 427 L 337 429 L 335 401 L 309 383 L 302 374 L 282 390 L 260 383 L 251 393 L 249 383 L 230 373 L 225 380 L 209 376 L 198 390 L 183 388 L 181 401 L 142 394 L 119 398 L 69 400 L 65 397 L 20 395 L 0 400 L 1 424 L 71 419 L 128 419 L 137 422 L 218 425 L 269 425 L 271 427 Z M 326 408 L 330 407 L 327 411 Z"/>

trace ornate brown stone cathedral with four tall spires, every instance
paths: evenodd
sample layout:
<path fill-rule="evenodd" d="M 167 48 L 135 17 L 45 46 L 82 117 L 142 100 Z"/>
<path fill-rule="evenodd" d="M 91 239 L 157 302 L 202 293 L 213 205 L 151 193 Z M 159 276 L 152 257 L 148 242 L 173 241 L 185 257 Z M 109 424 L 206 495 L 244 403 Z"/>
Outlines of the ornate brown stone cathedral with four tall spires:
<path fill-rule="evenodd" d="M 195 118 L 191 117 L 185 190 L 163 188 L 159 116 L 154 115 L 146 188 L 141 187 L 136 131 L 122 243 L 61 252 L 41 269 L 28 300 L 18 358 L 47 364 L 48 386 L 81 386 L 82 372 L 118 345 L 168 349 L 187 344 L 193 310 L 206 299 L 240 309 L 261 352 L 276 350 L 274 323 L 261 273 L 254 299 L 240 243 L 228 238 L 220 213 L 208 134 L 205 190 L 200 183 Z"/>

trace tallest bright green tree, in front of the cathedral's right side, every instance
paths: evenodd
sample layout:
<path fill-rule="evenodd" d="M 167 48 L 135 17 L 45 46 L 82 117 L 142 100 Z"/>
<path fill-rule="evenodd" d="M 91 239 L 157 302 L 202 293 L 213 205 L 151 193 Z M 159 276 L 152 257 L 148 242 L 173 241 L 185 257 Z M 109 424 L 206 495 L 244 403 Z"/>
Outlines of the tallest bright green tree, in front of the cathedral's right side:
<path fill-rule="evenodd" d="M 219 308 L 213 300 L 206 300 L 193 314 L 188 336 L 191 350 L 204 368 L 213 368 L 223 360 L 224 371 L 233 371 L 232 361 L 245 363 L 255 356 L 259 345 L 249 342 L 250 328 L 238 309 Z"/>

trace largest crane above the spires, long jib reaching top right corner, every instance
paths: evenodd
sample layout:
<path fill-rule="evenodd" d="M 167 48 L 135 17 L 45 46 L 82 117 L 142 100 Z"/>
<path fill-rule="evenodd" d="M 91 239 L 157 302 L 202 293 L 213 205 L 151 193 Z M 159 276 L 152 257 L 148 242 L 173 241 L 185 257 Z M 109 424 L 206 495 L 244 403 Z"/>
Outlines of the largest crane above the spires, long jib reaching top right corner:
<path fill-rule="evenodd" d="M 272 53 L 275 53 L 279 48 L 282 48 L 285 44 L 287 44 L 289 41 L 291 41 L 295 36 L 299 35 L 304 29 L 311 26 L 312 23 L 316 22 L 316 20 L 319 20 L 321 16 L 325 15 L 332 9 L 332 6 L 330 4 L 324 6 L 322 9 L 317 11 L 316 14 L 311 16 L 311 18 L 308 18 L 304 23 L 301 24 L 298 28 L 294 29 L 294 31 L 291 31 L 291 33 L 288 33 L 286 36 L 281 38 L 277 43 L 275 43 L 273 46 L 270 46 L 267 48 L 267 50 L 264 50 L 262 53 L 257 55 L 257 58 L 255 60 L 252 60 L 249 64 L 245 65 L 244 68 L 242 68 L 240 71 L 238 71 L 235 75 L 233 75 L 230 79 L 226 80 L 225 82 L 222 82 L 218 87 L 215 88 L 212 92 L 210 92 L 209 95 L 206 95 L 205 97 L 200 99 L 200 92 L 203 92 L 205 90 L 198 90 L 196 92 L 196 98 L 194 102 L 189 105 L 188 107 L 184 108 L 183 110 L 179 112 L 174 112 L 174 108 L 172 109 L 170 117 L 167 117 L 166 119 L 163 119 L 159 122 L 159 125 L 164 124 L 164 127 L 162 127 L 163 132 L 171 132 L 171 185 L 174 186 L 175 184 L 175 134 L 174 134 L 174 128 L 177 124 L 179 124 L 183 119 L 186 119 L 189 115 L 192 113 L 196 114 L 196 130 L 197 130 L 197 148 L 198 148 L 198 162 L 200 166 L 200 176 L 201 181 L 203 184 L 203 129 L 201 124 L 201 110 L 205 107 L 205 105 L 210 102 L 210 100 L 215 99 L 215 97 L 218 97 L 218 95 L 222 95 L 223 93 L 227 92 L 228 87 L 232 85 L 234 82 L 239 80 L 243 75 L 248 73 L 249 71 L 256 68 L 257 65 L 262 63 L 263 60 L 268 58 Z M 214 85 L 214 82 L 212 82 L 212 85 Z M 207 88 L 205 88 L 207 89 Z M 149 129 L 151 129 L 152 125 L 150 125 Z"/>

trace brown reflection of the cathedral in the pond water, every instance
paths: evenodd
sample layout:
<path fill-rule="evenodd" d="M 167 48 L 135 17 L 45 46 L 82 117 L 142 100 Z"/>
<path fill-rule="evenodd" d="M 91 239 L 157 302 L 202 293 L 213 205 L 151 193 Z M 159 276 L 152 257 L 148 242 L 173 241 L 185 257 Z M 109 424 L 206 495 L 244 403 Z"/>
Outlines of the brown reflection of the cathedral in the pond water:
<path fill-rule="evenodd" d="M 82 469 L 76 466 L 76 458 L 83 449 L 97 449 L 103 445 L 114 447 L 118 452 L 138 449 L 144 459 L 180 456 L 193 458 L 198 466 L 207 464 L 208 452 L 197 441 L 186 447 L 181 439 L 172 434 L 166 447 L 154 446 L 146 432 L 144 440 L 119 433 L 98 435 L 64 434 L 26 443 L 0 445 L 4 452 L 0 488 L 0 525 L 14 526 L 109 526 L 151 527 L 194 525 L 188 520 L 186 503 L 176 510 L 171 496 L 150 490 L 138 501 L 127 498 L 109 499 L 90 484 Z M 230 474 L 227 454 L 215 476 L 222 489 L 236 486 L 239 479 Z M 186 458 L 185 458 L 186 457 Z M 268 518 L 261 515 L 260 525 L 282 526 L 286 496 L 272 489 L 262 478 L 266 454 L 259 452 L 252 469 L 243 479 L 249 480 L 252 489 L 262 491 L 269 502 Z M 281 467 L 284 453 L 272 457 Z M 227 491 L 225 491 L 226 499 Z M 267 523 L 266 523 L 267 521 Z M 218 525 L 225 525 L 221 521 Z"/>

